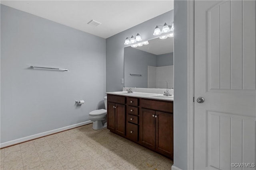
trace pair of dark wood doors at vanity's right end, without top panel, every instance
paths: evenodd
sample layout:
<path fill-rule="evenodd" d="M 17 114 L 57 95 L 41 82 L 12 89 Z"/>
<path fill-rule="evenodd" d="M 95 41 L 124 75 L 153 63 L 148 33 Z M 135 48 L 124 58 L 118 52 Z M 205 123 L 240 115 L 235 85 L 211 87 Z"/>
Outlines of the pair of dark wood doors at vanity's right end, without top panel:
<path fill-rule="evenodd" d="M 141 109 L 140 144 L 173 158 L 173 114 Z"/>

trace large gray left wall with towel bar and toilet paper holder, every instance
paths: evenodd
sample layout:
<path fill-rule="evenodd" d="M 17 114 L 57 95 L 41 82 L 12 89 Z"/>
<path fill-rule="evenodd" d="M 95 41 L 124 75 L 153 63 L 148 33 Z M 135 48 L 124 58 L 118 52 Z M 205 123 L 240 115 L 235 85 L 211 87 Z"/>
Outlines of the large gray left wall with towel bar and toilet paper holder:
<path fill-rule="evenodd" d="M 1 5 L 1 143 L 88 121 L 105 90 L 105 39 Z"/>

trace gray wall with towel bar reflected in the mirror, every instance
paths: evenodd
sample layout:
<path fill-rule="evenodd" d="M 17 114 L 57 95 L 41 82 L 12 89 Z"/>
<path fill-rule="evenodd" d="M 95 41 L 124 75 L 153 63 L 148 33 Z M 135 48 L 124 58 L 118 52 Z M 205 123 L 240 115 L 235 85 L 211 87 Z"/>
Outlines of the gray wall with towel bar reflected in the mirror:
<path fill-rule="evenodd" d="M 124 86 L 148 88 L 148 66 L 156 66 L 156 55 L 132 47 L 124 48 Z M 142 76 L 130 76 L 142 74 Z"/>

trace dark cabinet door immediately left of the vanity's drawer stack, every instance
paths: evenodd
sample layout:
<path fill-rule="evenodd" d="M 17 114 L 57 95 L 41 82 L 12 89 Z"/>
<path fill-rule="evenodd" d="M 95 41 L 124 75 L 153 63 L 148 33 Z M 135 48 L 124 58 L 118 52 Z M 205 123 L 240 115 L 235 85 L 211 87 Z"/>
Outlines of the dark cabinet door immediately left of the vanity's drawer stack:
<path fill-rule="evenodd" d="M 125 105 L 116 104 L 116 133 L 125 135 Z"/>

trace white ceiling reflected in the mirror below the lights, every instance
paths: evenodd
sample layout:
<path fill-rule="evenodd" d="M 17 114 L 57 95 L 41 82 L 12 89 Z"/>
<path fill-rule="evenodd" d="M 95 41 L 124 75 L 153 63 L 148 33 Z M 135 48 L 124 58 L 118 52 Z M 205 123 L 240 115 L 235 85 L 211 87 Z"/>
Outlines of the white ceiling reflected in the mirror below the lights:
<path fill-rule="evenodd" d="M 173 52 L 173 37 L 167 39 L 155 38 L 148 41 L 148 45 L 136 47 L 136 49 L 152 53 L 154 55 L 161 55 Z"/>

